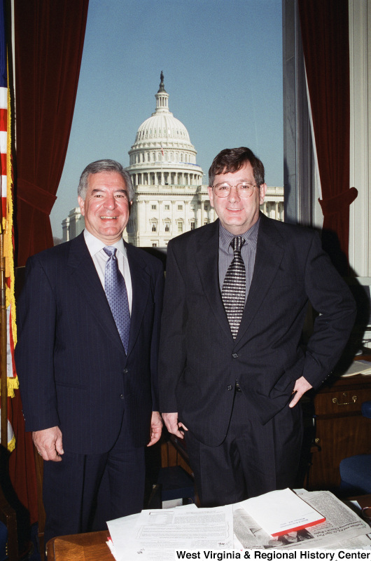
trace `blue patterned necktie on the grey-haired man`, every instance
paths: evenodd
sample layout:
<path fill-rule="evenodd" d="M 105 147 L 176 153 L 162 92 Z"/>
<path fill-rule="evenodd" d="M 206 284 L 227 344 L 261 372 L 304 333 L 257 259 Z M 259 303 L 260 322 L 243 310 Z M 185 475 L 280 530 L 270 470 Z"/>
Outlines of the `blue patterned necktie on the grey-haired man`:
<path fill-rule="evenodd" d="M 123 342 L 125 353 L 127 353 L 130 334 L 130 310 L 125 279 L 118 269 L 117 249 L 113 245 L 106 245 L 103 249 L 106 255 L 109 256 L 104 271 L 104 291 L 106 292 L 113 319 Z"/>

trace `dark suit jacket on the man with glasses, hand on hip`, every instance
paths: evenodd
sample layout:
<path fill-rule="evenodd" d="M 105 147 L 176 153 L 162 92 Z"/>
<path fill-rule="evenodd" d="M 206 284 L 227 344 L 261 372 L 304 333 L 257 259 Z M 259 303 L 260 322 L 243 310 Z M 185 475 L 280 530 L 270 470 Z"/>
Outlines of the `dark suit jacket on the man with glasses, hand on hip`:
<path fill-rule="evenodd" d="M 260 215 L 251 288 L 235 341 L 218 281 L 218 220 L 169 242 L 160 341 L 160 407 L 207 445 L 228 431 L 236 380 L 265 424 L 302 375 L 315 388 L 339 360 L 353 297 L 314 231 Z M 306 351 L 307 303 L 320 315 Z"/>

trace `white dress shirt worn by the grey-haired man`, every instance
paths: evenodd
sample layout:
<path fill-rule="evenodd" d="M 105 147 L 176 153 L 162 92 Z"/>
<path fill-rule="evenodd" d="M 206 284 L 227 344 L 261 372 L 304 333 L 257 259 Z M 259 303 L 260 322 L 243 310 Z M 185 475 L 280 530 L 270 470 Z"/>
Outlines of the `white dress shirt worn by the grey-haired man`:
<path fill-rule="evenodd" d="M 84 230 L 85 243 L 87 249 L 92 256 L 92 260 L 97 269 L 99 280 L 102 283 L 104 289 L 104 271 L 106 270 L 106 261 L 108 261 L 109 256 L 104 252 L 103 248 L 106 248 L 107 244 L 100 241 L 98 238 L 90 234 L 85 228 Z M 127 252 L 124 245 L 123 238 L 111 245 L 113 248 L 117 248 L 116 257 L 118 260 L 118 269 L 125 278 L 125 285 L 127 290 L 127 299 L 129 301 L 130 313 L 132 313 L 132 277 L 130 276 L 129 261 L 127 260 Z"/>

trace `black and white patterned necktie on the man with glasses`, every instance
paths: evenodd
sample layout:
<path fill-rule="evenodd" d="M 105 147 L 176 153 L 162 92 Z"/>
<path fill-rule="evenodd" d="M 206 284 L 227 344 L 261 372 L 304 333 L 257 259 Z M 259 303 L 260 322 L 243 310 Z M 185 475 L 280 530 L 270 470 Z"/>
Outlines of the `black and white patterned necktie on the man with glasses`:
<path fill-rule="evenodd" d="M 235 255 L 228 267 L 222 288 L 222 300 L 233 339 L 237 337 L 246 300 L 246 269 L 241 257 L 241 247 L 244 243 L 242 236 L 233 238 L 230 243 Z"/>

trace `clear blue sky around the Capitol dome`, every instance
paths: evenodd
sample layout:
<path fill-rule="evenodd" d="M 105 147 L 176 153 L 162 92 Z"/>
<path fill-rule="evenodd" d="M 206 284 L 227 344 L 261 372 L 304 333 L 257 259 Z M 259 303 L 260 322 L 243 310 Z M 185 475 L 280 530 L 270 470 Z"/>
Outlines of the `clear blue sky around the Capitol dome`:
<path fill-rule="evenodd" d="M 129 165 L 155 111 L 160 72 L 169 109 L 207 174 L 223 148 L 248 146 L 268 185 L 283 185 L 281 0 L 90 0 L 69 149 L 50 216 L 53 234 L 77 205 L 80 173 Z"/>

